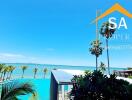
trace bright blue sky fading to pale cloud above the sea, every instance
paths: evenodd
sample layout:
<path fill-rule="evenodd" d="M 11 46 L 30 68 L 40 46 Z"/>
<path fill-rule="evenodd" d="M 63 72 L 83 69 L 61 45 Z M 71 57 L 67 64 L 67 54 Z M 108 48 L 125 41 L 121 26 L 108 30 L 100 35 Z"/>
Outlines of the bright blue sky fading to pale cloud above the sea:
<path fill-rule="evenodd" d="M 89 52 L 96 38 L 92 21 L 96 10 L 103 13 L 115 3 L 132 13 L 131 0 L 1 0 L 0 62 L 95 66 Z M 117 39 L 109 40 L 110 66 L 131 67 L 132 19 L 114 12 L 98 28 L 113 16 L 117 23 L 124 17 L 128 29 L 116 30 Z M 107 64 L 106 50 L 101 61 Z"/>

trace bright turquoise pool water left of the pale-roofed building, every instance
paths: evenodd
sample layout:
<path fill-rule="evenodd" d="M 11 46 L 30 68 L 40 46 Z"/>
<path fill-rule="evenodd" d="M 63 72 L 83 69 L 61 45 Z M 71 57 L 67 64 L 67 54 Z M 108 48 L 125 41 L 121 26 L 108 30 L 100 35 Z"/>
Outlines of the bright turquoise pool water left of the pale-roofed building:
<path fill-rule="evenodd" d="M 18 81 L 30 82 L 36 90 L 37 100 L 50 100 L 50 79 L 21 79 Z M 36 100 L 32 99 L 32 95 L 24 95 L 18 97 L 20 100 Z"/>

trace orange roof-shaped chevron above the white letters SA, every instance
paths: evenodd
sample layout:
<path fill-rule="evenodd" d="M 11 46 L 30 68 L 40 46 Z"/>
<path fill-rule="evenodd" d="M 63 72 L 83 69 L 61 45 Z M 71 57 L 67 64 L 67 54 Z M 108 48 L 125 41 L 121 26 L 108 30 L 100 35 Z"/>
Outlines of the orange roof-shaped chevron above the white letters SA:
<path fill-rule="evenodd" d="M 105 16 L 118 11 L 124 15 L 126 15 L 129 18 L 132 18 L 132 14 L 129 13 L 125 8 L 123 8 L 120 4 L 116 3 L 115 5 L 113 5 L 110 9 L 108 9 L 106 12 L 104 12 L 101 16 L 97 17 L 93 22 L 96 22 L 102 18 L 104 18 Z"/>

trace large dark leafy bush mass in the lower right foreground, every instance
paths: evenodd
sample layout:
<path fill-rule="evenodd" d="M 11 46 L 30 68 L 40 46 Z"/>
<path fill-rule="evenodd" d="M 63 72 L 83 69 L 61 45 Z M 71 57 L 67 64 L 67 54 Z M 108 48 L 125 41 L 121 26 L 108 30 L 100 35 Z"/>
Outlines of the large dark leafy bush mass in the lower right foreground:
<path fill-rule="evenodd" d="M 132 100 L 132 85 L 115 75 L 108 78 L 100 71 L 74 76 L 71 96 L 74 100 Z"/>

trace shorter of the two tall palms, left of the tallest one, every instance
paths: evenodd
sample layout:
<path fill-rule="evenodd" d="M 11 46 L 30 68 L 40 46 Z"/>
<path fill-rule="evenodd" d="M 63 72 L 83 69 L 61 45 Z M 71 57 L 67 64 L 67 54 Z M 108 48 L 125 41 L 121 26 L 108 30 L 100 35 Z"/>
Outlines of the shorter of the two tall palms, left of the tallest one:
<path fill-rule="evenodd" d="M 96 70 L 98 70 L 98 57 L 102 54 L 103 51 L 101 44 L 102 43 L 99 40 L 93 41 L 91 43 L 92 47 L 89 49 L 91 54 L 96 56 Z"/>

